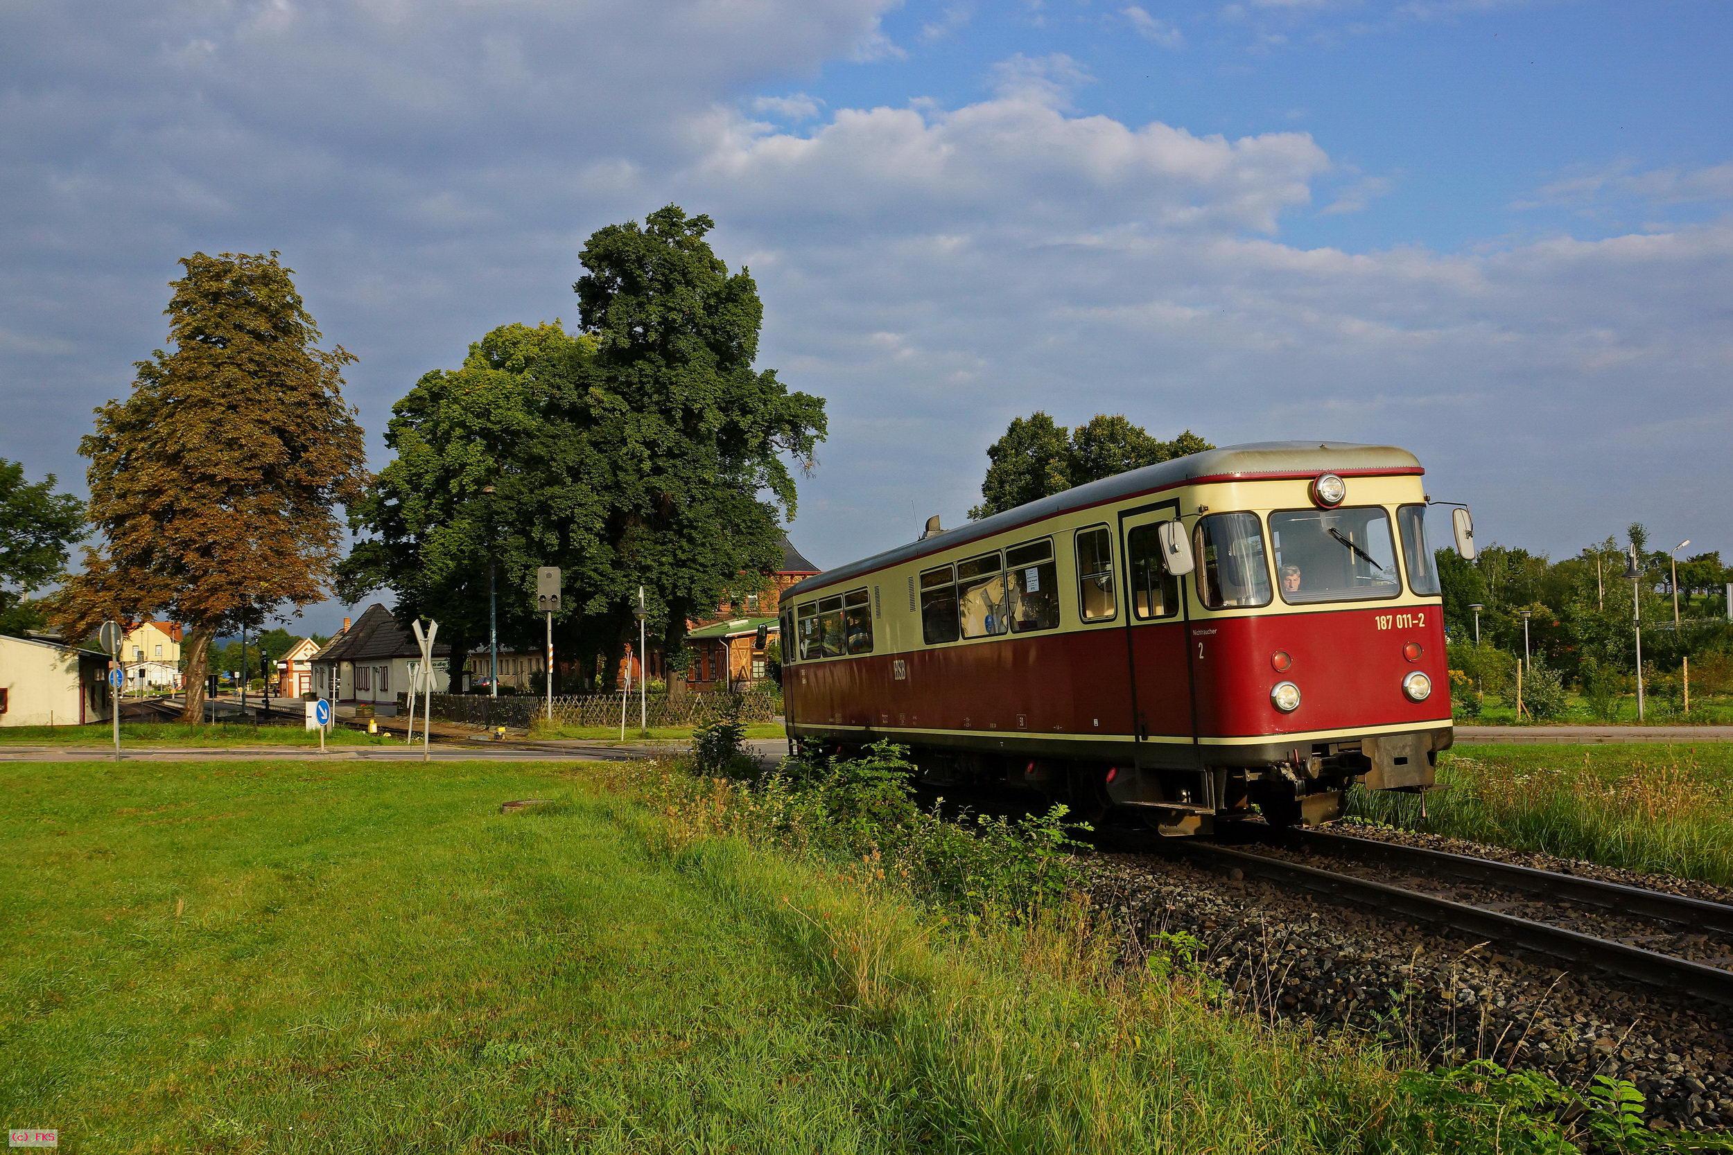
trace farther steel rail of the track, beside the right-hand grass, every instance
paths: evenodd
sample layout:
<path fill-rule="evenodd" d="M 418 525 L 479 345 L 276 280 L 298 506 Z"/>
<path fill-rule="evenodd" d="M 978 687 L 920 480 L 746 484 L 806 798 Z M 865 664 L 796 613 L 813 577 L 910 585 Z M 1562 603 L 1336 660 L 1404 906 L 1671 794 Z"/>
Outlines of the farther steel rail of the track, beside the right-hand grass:
<path fill-rule="evenodd" d="M 1733 935 L 1733 906 L 1721 902 L 1688 899 L 1678 894 L 1645 890 L 1643 887 L 1612 883 L 1600 878 L 1582 878 L 1580 874 L 1542 871 L 1534 866 L 1516 866 L 1515 862 L 1480 859 L 1468 854 L 1449 854 L 1445 850 L 1379 842 L 1376 838 L 1355 838 L 1353 835 L 1336 831 L 1289 829 L 1277 845 L 1282 843 L 1355 857 L 1366 862 L 1405 866 L 1430 874 L 1452 874 L 1470 881 L 1513 887 L 1548 899 L 1568 899 L 1572 902 L 1619 911 L 1620 914 L 1678 923 L 1690 930 Z"/>

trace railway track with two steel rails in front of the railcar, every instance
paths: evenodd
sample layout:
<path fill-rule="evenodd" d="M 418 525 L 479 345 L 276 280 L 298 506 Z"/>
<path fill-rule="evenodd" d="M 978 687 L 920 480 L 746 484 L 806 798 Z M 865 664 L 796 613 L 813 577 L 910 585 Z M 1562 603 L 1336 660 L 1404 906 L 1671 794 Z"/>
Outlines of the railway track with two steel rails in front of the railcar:
<path fill-rule="evenodd" d="M 1189 840 L 1172 849 L 1248 878 L 1733 1008 L 1733 906 L 1310 829 L 1258 849 Z"/>

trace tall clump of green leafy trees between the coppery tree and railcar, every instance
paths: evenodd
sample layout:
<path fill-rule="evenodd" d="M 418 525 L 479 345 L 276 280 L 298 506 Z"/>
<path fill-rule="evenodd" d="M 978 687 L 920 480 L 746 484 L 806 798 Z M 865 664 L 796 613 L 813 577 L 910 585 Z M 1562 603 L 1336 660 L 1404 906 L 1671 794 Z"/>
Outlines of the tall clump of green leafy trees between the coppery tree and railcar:
<path fill-rule="evenodd" d="M 555 646 L 612 677 L 639 585 L 674 653 L 688 618 L 776 565 L 825 409 L 756 367 L 757 286 L 716 256 L 711 229 L 667 206 L 598 230 L 577 336 L 496 329 L 397 403 L 345 596 L 390 587 L 399 616 L 438 618 L 456 675 L 485 637 L 489 568 L 503 641 L 539 644 L 535 568 L 558 565 Z"/>

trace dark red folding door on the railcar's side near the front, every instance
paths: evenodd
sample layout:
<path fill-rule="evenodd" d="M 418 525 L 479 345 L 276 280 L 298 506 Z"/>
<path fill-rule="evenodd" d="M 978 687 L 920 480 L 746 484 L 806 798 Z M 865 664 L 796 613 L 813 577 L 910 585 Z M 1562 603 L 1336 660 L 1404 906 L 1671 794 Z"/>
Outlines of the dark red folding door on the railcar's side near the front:
<path fill-rule="evenodd" d="M 1166 573 L 1156 539 L 1156 526 L 1177 519 L 1178 513 L 1178 502 L 1168 500 L 1120 514 L 1137 762 L 1147 767 L 1187 767 L 1196 757 L 1184 578 Z"/>

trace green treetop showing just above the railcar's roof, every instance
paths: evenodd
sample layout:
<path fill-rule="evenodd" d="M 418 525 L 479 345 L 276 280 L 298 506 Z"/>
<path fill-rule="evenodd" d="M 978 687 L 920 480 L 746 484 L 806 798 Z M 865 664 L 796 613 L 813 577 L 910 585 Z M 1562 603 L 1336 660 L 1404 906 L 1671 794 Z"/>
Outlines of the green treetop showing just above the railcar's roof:
<path fill-rule="evenodd" d="M 988 447 L 981 504 L 969 516 L 981 519 L 1088 481 L 1206 448 L 1215 445 L 1191 429 L 1163 442 L 1123 414 L 1097 414 L 1076 429 L 1066 429 L 1036 410 L 1028 417 L 1014 417 L 1005 435 Z"/>

